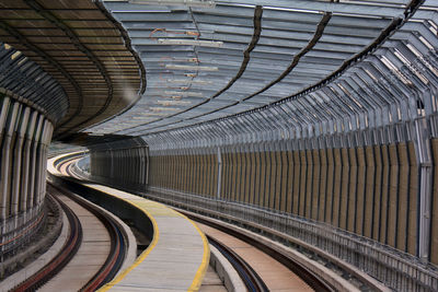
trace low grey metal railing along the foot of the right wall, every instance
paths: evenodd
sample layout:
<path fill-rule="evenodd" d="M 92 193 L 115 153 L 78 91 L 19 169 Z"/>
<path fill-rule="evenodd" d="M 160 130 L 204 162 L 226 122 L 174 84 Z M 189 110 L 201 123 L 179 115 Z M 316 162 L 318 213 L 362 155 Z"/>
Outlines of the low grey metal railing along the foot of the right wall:
<path fill-rule="evenodd" d="M 388 245 L 324 223 L 171 189 L 150 187 L 142 195 L 193 212 L 231 215 L 290 235 L 351 264 L 396 291 L 438 290 L 437 267 Z M 242 222 L 240 220 L 235 222 Z"/>

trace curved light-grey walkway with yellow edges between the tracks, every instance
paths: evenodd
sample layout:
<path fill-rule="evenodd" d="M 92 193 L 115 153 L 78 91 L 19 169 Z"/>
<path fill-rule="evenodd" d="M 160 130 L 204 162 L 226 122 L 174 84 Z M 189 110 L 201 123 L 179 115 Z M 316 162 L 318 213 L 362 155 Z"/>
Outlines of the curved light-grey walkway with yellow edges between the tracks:
<path fill-rule="evenodd" d="M 58 156 L 57 159 L 59 159 Z M 48 168 L 54 172 L 49 160 Z M 58 171 L 55 171 L 59 175 Z M 145 212 L 153 224 L 153 238 L 136 261 L 99 291 L 198 291 L 209 265 L 204 233 L 166 206 L 97 184 L 82 184 L 116 197 Z"/>

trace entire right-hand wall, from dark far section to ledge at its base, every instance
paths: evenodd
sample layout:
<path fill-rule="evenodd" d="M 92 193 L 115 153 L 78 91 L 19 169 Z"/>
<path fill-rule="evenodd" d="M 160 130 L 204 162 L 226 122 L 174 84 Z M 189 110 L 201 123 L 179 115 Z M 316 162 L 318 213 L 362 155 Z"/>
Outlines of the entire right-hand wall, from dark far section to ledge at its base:
<path fill-rule="evenodd" d="M 425 244 L 420 192 L 426 186 L 420 184 L 415 142 L 408 139 L 343 147 L 341 137 L 332 136 L 152 150 L 149 156 L 126 144 L 114 150 L 106 145 L 91 151 L 91 173 L 108 185 L 277 229 L 396 290 L 437 288 L 438 139 L 427 143 L 434 150 L 428 167 L 435 178 L 428 192 L 426 265 L 419 256 Z M 149 165 L 139 163 L 145 160 Z M 147 167 L 149 185 L 138 176 Z"/>

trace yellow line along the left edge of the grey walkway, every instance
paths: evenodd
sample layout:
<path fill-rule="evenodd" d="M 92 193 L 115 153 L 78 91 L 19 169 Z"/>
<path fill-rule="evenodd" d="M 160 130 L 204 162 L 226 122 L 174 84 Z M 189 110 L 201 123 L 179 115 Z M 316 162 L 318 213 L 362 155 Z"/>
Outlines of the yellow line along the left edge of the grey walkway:
<path fill-rule="evenodd" d="M 106 192 L 108 194 L 108 192 Z M 152 252 L 152 249 L 155 247 L 157 243 L 158 243 L 158 238 L 160 237 L 160 231 L 158 229 L 158 224 L 155 219 L 152 217 L 151 213 L 149 213 L 147 210 L 145 210 L 143 208 L 141 208 L 140 206 L 138 206 L 135 202 L 131 202 L 129 200 L 123 199 L 120 197 L 114 196 L 112 194 L 108 194 L 113 197 L 116 197 L 118 199 L 122 199 L 130 205 L 132 205 L 134 207 L 140 209 L 143 213 L 146 213 L 148 215 L 148 218 L 152 221 L 152 226 L 153 226 L 153 238 L 152 242 L 150 243 L 150 245 L 148 246 L 148 248 L 146 248 L 145 252 L 141 253 L 141 255 L 136 259 L 136 261 L 134 261 L 134 264 L 131 266 L 129 266 L 128 268 L 126 268 L 122 273 L 119 273 L 113 281 L 106 283 L 105 285 L 103 285 L 101 289 L 99 289 L 97 291 L 107 291 L 111 288 L 113 288 L 115 284 L 117 284 L 118 282 L 120 282 L 134 268 L 136 268 L 138 265 L 140 265 L 146 257 Z"/>

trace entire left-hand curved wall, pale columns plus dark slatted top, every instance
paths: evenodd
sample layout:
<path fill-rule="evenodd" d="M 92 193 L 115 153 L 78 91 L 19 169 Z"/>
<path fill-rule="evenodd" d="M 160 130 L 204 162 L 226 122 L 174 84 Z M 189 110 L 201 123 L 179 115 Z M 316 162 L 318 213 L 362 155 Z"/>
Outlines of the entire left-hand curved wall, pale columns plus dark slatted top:
<path fill-rule="evenodd" d="M 69 103 L 59 83 L 0 43 L 0 275 L 5 259 L 44 226 L 46 160 Z M 10 260 L 12 262 L 12 260 Z"/>

